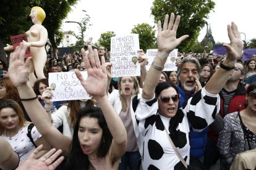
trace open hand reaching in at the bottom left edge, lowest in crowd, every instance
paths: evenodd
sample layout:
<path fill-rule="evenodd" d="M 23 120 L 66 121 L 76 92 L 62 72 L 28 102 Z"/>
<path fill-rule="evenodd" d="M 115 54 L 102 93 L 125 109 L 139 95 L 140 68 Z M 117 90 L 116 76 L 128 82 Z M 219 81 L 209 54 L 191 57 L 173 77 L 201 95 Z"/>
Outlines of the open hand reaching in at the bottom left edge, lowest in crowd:
<path fill-rule="evenodd" d="M 26 161 L 24 161 L 20 166 L 17 168 L 17 170 L 48 170 L 48 169 L 56 169 L 57 166 L 64 160 L 64 157 L 61 156 L 58 158 L 59 155 L 61 155 L 61 150 L 56 151 L 56 148 L 52 148 L 49 150 L 49 152 L 45 153 L 41 158 L 38 160 L 35 159 L 36 154 L 40 152 L 41 148 L 43 148 L 43 145 L 40 145 L 37 147 L 33 153 L 28 157 Z M 58 158 L 58 160 L 56 160 Z M 56 161 L 54 161 L 56 160 Z"/>

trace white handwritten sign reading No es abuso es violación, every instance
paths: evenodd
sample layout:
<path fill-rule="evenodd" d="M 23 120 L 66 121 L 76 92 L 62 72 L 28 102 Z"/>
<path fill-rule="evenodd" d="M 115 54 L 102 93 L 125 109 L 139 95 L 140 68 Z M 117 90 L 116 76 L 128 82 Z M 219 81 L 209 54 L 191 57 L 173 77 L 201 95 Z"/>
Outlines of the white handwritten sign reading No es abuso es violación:
<path fill-rule="evenodd" d="M 80 72 L 87 79 L 87 71 Z M 74 71 L 49 73 L 49 87 L 53 87 L 54 101 L 91 99 Z"/>

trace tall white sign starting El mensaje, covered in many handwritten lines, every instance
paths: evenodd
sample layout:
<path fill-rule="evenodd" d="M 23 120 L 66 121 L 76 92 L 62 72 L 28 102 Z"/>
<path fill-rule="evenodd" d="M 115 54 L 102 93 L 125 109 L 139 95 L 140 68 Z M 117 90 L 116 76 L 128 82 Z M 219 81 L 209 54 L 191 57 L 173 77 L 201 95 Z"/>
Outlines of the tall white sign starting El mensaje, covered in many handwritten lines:
<path fill-rule="evenodd" d="M 138 62 L 139 34 L 126 34 L 111 38 L 111 76 L 140 76 Z"/>

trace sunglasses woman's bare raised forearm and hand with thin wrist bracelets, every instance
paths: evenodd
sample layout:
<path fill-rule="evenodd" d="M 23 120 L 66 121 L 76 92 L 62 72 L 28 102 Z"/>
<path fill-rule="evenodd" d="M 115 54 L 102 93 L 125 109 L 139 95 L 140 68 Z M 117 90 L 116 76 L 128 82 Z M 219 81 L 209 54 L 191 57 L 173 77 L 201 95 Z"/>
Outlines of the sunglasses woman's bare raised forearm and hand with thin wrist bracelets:
<path fill-rule="evenodd" d="M 176 17 L 174 22 L 174 14 L 171 13 L 169 15 L 165 15 L 163 29 L 161 27 L 161 22 L 158 21 L 158 34 L 157 34 L 157 44 L 158 44 L 158 52 L 156 57 L 148 70 L 145 83 L 143 86 L 142 97 L 143 99 L 152 99 L 155 93 L 155 87 L 158 83 L 158 78 L 161 75 L 161 71 L 164 68 L 164 63 L 171 51 L 173 51 L 179 44 L 181 44 L 184 39 L 188 38 L 188 35 L 181 36 L 176 39 L 176 31 L 179 26 L 180 16 Z"/>

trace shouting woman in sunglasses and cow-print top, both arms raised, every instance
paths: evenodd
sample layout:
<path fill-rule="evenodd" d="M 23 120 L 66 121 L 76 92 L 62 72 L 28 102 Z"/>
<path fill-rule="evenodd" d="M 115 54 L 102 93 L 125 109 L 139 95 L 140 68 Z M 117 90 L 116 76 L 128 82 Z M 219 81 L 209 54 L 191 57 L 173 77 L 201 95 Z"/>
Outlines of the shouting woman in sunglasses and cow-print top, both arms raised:
<path fill-rule="evenodd" d="M 158 21 L 158 52 L 147 73 L 142 95 L 137 95 L 132 101 L 139 131 L 143 136 L 143 169 L 186 169 L 184 165 L 190 164 L 190 128 L 202 131 L 214 121 L 220 110 L 218 93 L 229 78 L 237 58 L 242 54 L 240 34 L 237 26 L 232 23 L 228 25 L 231 44 L 224 44 L 228 51 L 226 60 L 206 86 L 190 98 L 187 105 L 179 108 L 177 87 L 171 83 L 158 84 L 156 79 L 161 75 L 169 53 L 188 37 L 184 35 L 176 39 L 180 17 L 177 16 L 174 22 L 172 13 L 169 23 L 168 18 L 168 15 L 164 18 L 163 29 Z M 194 76 L 192 73 L 188 71 L 190 77 Z M 198 79 L 194 79 L 199 85 Z M 171 140 L 177 152 L 170 144 Z M 177 156 L 179 154 L 184 164 Z"/>

